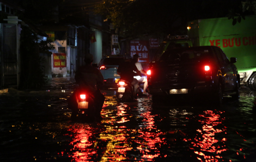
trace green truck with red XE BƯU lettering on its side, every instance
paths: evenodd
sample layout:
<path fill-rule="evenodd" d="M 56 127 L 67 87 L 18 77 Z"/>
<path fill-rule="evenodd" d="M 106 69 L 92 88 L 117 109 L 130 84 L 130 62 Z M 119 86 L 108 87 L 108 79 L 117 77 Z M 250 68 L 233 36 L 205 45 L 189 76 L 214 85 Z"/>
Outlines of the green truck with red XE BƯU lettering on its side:
<path fill-rule="evenodd" d="M 188 22 L 193 46 L 217 46 L 227 57 L 236 57 L 240 84 L 256 90 L 256 16 L 232 25 L 227 17 Z"/>

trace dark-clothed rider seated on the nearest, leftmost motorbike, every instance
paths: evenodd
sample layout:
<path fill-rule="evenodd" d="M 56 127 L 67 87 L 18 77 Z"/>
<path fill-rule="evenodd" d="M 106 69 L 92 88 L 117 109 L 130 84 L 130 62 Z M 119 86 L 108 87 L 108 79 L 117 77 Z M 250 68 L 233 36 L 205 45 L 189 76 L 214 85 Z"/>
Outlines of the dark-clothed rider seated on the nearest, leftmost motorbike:
<path fill-rule="evenodd" d="M 84 57 L 85 66 L 78 68 L 75 73 L 76 83 L 80 88 L 86 89 L 94 96 L 94 103 L 96 107 L 96 119 L 102 119 L 101 109 L 105 100 L 105 96 L 100 92 L 103 88 L 104 79 L 99 69 L 92 66 L 93 55 L 87 54 Z"/>

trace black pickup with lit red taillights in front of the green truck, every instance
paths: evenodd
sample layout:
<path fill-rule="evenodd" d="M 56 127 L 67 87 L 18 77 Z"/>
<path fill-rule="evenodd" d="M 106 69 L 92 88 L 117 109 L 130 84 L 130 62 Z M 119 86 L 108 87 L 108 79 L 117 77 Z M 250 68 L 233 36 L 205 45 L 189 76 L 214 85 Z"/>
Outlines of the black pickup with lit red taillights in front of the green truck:
<path fill-rule="evenodd" d="M 240 76 L 221 48 L 200 46 L 166 50 L 148 70 L 148 88 L 153 102 L 164 96 L 214 101 L 221 105 L 223 95 L 240 97 Z"/>

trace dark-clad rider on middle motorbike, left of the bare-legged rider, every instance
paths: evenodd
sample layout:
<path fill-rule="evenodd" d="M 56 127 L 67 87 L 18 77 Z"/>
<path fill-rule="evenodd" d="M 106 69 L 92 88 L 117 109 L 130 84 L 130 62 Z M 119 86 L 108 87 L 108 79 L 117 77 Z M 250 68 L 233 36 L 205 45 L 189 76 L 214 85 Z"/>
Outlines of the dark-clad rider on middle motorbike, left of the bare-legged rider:
<path fill-rule="evenodd" d="M 136 78 L 133 78 L 133 76 L 138 74 L 141 75 L 141 72 L 139 72 L 135 64 L 132 63 L 130 59 L 126 59 L 124 63 L 118 66 L 117 74 L 120 75 L 120 79 L 129 81 L 133 85 L 134 94 L 136 96 L 136 92 L 139 87 L 139 82 Z"/>

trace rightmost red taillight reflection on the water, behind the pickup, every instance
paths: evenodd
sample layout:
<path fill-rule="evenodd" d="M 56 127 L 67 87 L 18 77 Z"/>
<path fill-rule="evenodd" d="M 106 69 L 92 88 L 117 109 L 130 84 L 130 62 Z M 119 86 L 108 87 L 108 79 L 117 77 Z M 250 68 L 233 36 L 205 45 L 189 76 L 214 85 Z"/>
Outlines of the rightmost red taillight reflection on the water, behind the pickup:
<path fill-rule="evenodd" d="M 207 154 L 208 152 L 220 154 L 223 151 L 227 151 L 227 148 L 225 148 L 224 145 L 227 138 L 215 138 L 217 133 L 225 134 L 224 131 L 226 131 L 225 127 L 222 125 L 224 119 L 220 119 L 220 115 L 218 115 L 222 112 L 216 114 L 212 111 L 204 111 L 204 113 L 205 114 L 199 115 L 202 117 L 202 120 L 199 120 L 199 122 L 201 122 L 203 126 L 202 129 L 197 129 L 197 132 L 200 134 L 197 134 L 197 137 L 191 142 L 191 149 L 194 150 L 194 153 L 202 156 L 197 157 L 201 161 L 203 161 L 202 158 L 204 158 L 205 161 L 218 161 L 222 159 L 220 155 L 214 157 Z M 222 127 L 222 129 L 216 128 L 217 126 L 218 128 Z"/>

